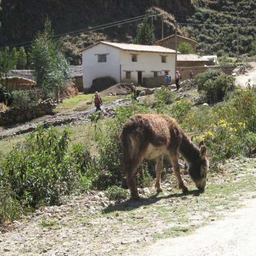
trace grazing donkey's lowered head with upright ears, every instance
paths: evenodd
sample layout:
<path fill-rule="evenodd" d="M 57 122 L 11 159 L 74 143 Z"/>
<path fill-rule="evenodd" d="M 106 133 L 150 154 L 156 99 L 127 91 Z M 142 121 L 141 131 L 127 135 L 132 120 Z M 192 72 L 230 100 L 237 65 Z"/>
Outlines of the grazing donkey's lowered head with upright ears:
<path fill-rule="evenodd" d="M 206 158 L 207 147 L 204 142 L 200 142 L 200 157 L 192 161 L 188 165 L 188 173 L 195 182 L 198 189 L 202 189 L 206 185 L 206 175 L 209 168 L 209 161 Z"/>

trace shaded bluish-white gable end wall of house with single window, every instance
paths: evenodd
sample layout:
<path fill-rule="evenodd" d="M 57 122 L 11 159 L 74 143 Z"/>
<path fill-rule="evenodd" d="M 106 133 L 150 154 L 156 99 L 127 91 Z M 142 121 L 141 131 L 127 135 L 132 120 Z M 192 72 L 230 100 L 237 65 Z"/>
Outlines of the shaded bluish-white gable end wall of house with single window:
<path fill-rule="evenodd" d="M 120 82 L 119 49 L 98 44 L 83 52 L 83 89 L 89 89 L 93 79 L 110 76 Z M 107 54 L 106 62 L 98 62 L 98 55 Z"/>

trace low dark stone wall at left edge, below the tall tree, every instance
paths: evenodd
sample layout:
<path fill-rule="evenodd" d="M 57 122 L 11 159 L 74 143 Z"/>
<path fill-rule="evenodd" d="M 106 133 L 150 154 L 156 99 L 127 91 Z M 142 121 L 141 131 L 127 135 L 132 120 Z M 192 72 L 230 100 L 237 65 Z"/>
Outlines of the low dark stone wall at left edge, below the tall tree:
<path fill-rule="evenodd" d="M 56 108 L 56 103 L 51 98 L 40 102 L 32 108 L 9 108 L 0 112 L 0 125 L 11 125 L 14 123 L 22 123 L 35 117 L 52 115 Z"/>

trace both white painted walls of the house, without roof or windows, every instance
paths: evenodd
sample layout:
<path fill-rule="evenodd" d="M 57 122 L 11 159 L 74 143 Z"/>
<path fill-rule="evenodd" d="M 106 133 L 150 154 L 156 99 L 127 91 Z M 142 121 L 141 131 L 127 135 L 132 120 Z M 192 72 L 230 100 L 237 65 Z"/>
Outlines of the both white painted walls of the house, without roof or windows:
<path fill-rule="evenodd" d="M 98 55 L 107 54 L 106 62 L 98 62 Z M 137 54 L 137 62 L 131 61 L 131 54 Z M 161 55 L 165 55 L 166 63 L 161 63 Z M 121 64 L 121 81 L 120 81 Z M 122 51 L 110 45 L 99 43 L 91 49 L 83 52 L 83 88 L 89 89 L 93 84 L 93 79 L 98 77 L 110 76 L 116 79 L 117 83 L 138 81 L 138 71 L 142 71 L 143 77 L 153 77 L 152 71 L 170 70 L 172 79 L 175 75 L 175 54 L 174 53 L 149 53 Z M 131 80 L 126 80 L 125 71 L 131 71 Z"/>

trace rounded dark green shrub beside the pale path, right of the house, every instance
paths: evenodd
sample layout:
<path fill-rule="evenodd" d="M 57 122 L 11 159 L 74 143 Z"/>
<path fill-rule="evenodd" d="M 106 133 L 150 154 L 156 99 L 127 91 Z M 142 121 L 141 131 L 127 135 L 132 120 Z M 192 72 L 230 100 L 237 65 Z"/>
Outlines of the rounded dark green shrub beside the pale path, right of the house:
<path fill-rule="evenodd" d="M 222 101 L 226 93 L 234 90 L 235 78 L 232 75 L 219 75 L 208 79 L 202 87 L 208 103 Z"/>

